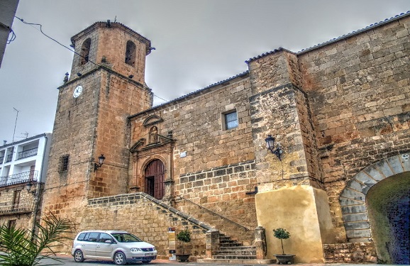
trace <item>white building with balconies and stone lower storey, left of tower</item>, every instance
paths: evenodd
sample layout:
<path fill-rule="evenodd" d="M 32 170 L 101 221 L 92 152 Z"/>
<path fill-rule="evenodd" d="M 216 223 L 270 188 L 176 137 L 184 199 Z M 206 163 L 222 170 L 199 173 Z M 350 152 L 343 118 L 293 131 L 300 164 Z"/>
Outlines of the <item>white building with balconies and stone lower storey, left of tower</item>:
<path fill-rule="evenodd" d="M 31 228 L 38 220 L 52 134 L 0 146 L 0 223 Z"/>

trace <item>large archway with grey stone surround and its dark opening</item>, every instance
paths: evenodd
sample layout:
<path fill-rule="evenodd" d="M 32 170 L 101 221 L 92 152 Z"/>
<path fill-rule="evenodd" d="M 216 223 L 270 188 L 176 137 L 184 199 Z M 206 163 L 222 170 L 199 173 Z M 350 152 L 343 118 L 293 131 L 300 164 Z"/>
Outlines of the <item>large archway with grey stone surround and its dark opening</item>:
<path fill-rule="evenodd" d="M 356 174 L 340 194 L 348 242 L 374 241 L 380 262 L 409 264 L 409 194 L 408 154 Z"/>

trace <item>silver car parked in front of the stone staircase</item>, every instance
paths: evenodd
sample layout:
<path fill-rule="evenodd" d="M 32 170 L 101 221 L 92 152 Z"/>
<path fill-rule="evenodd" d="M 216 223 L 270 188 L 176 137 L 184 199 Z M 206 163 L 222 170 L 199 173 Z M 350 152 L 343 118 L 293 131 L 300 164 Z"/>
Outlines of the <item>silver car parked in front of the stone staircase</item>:
<path fill-rule="evenodd" d="M 113 260 L 116 265 L 126 265 L 127 262 L 149 263 L 157 258 L 157 250 L 126 231 L 89 230 L 75 237 L 71 255 L 76 262 Z"/>

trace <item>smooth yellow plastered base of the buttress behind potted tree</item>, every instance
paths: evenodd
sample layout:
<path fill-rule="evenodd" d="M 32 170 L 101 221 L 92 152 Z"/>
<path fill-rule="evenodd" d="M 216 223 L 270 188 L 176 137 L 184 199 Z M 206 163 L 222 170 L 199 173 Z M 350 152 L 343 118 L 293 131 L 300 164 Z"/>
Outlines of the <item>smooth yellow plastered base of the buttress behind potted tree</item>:
<path fill-rule="evenodd" d="M 332 241 L 331 217 L 326 192 L 301 185 L 255 195 L 258 226 L 266 229 L 267 258 L 282 254 L 275 228 L 291 234 L 283 240 L 284 252 L 295 254 L 294 262 L 323 263 L 323 243 Z"/>

